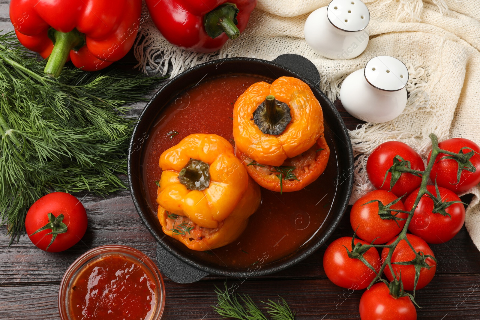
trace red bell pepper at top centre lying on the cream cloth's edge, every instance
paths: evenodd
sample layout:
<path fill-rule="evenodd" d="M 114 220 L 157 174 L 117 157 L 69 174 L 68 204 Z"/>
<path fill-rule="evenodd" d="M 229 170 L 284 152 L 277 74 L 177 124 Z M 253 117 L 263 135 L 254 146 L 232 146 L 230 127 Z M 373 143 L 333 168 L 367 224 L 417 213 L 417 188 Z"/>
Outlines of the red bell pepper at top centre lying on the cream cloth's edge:
<path fill-rule="evenodd" d="M 245 30 L 257 0 L 145 0 L 153 22 L 172 44 L 196 52 L 220 49 Z"/>

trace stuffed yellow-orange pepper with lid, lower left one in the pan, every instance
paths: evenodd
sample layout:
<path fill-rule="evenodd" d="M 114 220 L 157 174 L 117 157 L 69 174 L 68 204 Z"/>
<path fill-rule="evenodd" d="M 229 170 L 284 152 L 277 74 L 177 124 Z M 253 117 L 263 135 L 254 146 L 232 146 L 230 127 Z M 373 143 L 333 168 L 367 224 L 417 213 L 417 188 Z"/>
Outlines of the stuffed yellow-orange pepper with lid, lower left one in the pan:
<path fill-rule="evenodd" d="M 260 188 L 233 147 L 215 134 L 192 134 L 160 156 L 158 219 L 193 250 L 235 240 L 260 205 Z"/>

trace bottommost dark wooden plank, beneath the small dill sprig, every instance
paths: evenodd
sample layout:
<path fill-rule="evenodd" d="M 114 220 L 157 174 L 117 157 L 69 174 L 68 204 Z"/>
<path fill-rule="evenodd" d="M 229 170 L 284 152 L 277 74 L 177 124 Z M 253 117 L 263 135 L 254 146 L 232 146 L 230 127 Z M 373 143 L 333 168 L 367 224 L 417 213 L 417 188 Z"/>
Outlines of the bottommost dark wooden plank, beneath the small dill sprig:
<path fill-rule="evenodd" d="M 480 274 L 438 276 L 417 292 L 418 319 L 478 320 L 480 319 Z M 216 304 L 215 285 L 223 280 L 203 280 L 195 284 L 166 281 L 167 304 L 162 319 L 209 320 L 220 317 L 210 307 Z M 296 320 L 359 319 L 358 306 L 363 290 L 348 291 L 326 279 L 259 280 L 228 279 L 228 287 L 237 293 L 252 296 L 255 302 L 278 295 L 297 312 Z M 57 310 L 58 285 L 0 287 L 0 319 L 59 319 Z M 439 294 L 441 292 L 441 294 Z M 261 305 L 259 303 L 259 305 Z M 21 315 L 21 316 L 20 316 Z"/>

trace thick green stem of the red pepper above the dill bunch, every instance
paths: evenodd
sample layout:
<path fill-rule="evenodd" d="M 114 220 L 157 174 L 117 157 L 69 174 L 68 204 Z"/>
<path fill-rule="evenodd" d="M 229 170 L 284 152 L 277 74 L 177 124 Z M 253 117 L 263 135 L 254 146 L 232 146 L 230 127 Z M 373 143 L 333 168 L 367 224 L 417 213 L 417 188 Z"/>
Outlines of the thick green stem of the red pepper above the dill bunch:
<path fill-rule="evenodd" d="M 60 75 L 65 62 L 67 62 L 70 50 L 82 44 L 84 39 L 76 30 L 67 33 L 55 30 L 53 35 L 55 37 L 55 45 L 53 46 L 52 53 L 48 57 L 47 66 L 45 67 L 44 72 L 50 77 L 57 78 Z"/>

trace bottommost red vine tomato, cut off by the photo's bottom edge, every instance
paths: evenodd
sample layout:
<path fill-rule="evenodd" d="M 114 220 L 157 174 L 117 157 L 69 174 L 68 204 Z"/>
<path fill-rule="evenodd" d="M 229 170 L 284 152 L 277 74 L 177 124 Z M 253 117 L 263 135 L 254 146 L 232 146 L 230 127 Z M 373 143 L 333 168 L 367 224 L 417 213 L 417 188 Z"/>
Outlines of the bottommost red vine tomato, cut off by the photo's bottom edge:
<path fill-rule="evenodd" d="M 394 298 L 383 282 L 373 284 L 360 298 L 361 320 L 416 320 L 417 310 L 408 296 Z"/>

